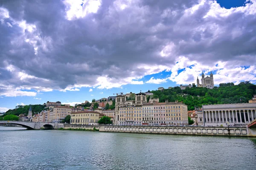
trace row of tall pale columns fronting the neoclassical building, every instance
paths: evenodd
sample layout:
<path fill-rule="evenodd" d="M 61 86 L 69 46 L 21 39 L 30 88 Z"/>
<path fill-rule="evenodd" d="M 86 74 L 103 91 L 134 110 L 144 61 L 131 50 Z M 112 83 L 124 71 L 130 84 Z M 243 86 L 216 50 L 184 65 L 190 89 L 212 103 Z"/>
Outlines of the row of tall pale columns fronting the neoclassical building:
<path fill-rule="evenodd" d="M 206 123 L 249 123 L 255 118 L 255 109 L 204 110 Z"/>

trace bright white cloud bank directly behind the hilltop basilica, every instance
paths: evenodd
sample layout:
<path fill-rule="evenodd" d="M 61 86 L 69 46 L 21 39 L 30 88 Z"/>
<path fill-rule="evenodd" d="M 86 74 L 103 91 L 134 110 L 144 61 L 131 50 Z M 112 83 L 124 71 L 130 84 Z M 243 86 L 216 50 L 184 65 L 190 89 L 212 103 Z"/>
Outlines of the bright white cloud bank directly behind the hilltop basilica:
<path fill-rule="evenodd" d="M 229 62 L 216 62 L 212 63 L 212 67 L 197 63 L 196 61 L 190 61 L 188 58 L 180 58 L 178 63 L 172 68 L 172 74 L 169 80 L 176 82 L 177 84 L 196 84 L 197 77 L 201 84 L 201 72 L 205 72 L 205 77 L 210 74 L 210 71 L 216 72 L 213 74 L 214 84 L 218 86 L 220 83 L 234 82 L 239 84 L 241 81 L 250 80 L 251 83 L 256 83 L 256 66 L 249 66 L 247 68 L 243 66 L 231 64 Z M 178 74 L 178 70 L 183 69 Z"/>

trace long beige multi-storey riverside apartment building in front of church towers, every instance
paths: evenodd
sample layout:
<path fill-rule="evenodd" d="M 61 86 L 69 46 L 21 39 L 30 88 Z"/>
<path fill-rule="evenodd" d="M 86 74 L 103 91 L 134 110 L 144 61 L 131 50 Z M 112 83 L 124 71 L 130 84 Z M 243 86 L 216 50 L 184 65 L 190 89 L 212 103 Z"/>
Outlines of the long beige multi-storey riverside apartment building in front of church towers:
<path fill-rule="evenodd" d="M 119 124 L 188 124 L 187 106 L 179 102 L 119 107 Z"/>

